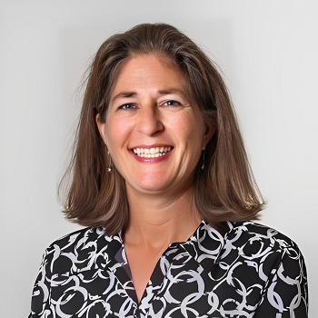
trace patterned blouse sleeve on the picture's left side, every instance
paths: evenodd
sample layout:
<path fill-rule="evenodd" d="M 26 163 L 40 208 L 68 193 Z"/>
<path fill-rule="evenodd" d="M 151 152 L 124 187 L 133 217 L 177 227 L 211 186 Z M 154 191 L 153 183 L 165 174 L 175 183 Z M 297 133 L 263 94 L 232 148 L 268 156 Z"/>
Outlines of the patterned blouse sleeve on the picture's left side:
<path fill-rule="evenodd" d="M 28 318 L 54 317 L 50 309 L 51 277 L 49 249 L 45 250 L 32 293 L 31 313 Z"/>

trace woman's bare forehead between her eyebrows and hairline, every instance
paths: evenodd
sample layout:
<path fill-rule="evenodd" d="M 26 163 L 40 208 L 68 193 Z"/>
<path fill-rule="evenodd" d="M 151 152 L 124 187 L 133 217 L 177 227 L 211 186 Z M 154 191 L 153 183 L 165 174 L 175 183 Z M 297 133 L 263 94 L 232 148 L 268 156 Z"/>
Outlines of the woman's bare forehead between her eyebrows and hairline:
<path fill-rule="evenodd" d="M 113 94 L 123 90 L 145 91 L 175 87 L 185 93 L 182 70 L 168 58 L 134 55 L 122 67 Z"/>

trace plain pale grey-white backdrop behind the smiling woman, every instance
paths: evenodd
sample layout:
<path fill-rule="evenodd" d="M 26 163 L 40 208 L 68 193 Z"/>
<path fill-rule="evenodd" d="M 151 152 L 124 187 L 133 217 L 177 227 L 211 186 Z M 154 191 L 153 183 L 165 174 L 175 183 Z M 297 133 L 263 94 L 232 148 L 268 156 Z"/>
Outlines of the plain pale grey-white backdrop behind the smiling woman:
<path fill-rule="evenodd" d="M 303 251 L 318 316 L 316 1 L 1 1 L 2 317 L 26 317 L 45 247 L 78 228 L 56 201 L 91 57 L 141 23 L 180 28 L 226 75 L 256 179 L 263 224 Z M 297 317 L 298 318 L 298 317 Z"/>

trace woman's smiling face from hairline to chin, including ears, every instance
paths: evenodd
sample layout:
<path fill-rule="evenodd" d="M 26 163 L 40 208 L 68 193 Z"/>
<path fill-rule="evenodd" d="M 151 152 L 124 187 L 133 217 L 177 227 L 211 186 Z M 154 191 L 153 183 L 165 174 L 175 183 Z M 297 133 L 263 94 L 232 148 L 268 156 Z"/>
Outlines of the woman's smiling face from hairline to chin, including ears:
<path fill-rule="evenodd" d="M 124 65 L 106 121 L 97 124 L 127 190 L 175 194 L 194 184 L 214 129 L 206 129 L 185 95 L 184 75 L 155 55 L 136 55 Z"/>

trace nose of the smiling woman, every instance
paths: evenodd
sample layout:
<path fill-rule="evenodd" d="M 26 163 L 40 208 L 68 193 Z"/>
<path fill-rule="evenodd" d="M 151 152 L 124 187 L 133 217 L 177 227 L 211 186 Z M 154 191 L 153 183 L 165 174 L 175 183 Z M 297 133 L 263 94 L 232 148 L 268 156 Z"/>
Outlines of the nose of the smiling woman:
<path fill-rule="evenodd" d="M 138 131 L 149 136 L 164 131 L 162 116 L 156 104 L 148 103 L 142 107 L 138 114 Z"/>

